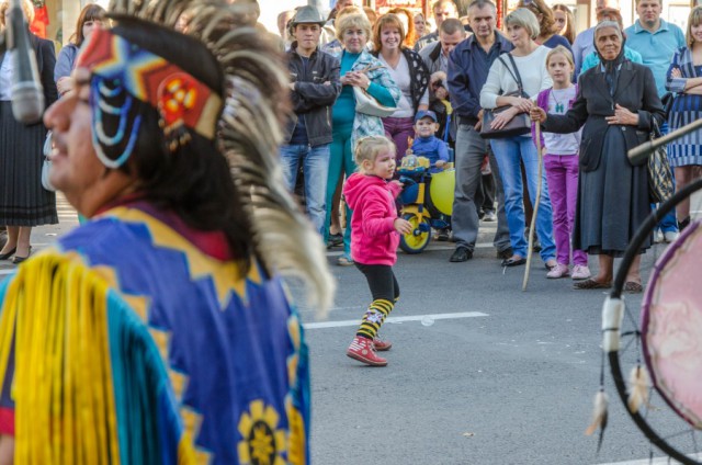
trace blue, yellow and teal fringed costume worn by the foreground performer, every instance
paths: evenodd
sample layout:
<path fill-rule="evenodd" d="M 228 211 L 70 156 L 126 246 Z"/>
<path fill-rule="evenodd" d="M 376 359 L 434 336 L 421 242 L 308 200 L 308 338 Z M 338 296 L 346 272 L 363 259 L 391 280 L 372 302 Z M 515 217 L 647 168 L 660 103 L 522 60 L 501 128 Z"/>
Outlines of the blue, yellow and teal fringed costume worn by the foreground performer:
<path fill-rule="evenodd" d="M 217 232 L 136 202 L 2 283 L 18 463 L 307 462 L 297 316 L 280 280 L 223 251 Z"/>

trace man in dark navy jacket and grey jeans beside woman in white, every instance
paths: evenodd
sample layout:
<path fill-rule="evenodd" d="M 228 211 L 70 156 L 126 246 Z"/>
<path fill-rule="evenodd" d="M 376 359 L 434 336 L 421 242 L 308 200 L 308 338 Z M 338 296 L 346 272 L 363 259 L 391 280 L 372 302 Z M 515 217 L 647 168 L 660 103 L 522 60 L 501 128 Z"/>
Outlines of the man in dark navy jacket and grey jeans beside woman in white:
<path fill-rule="evenodd" d="M 478 212 L 475 194 L 480 182 L 480 165 L 488 154 L 497 188 L 497 232 L 494 245 L 499 258 L 512 256 L 509 227 L 505 216 L 505 191 L 490 145 L 480 137 L 480 89 L 487 80 L 492 61 L 512 44 L 497 33 L 497 8 L 490 0 L 474 0 L 468 5 L 468 24 L 473 35 L 456 46 L 449 57 L 449 95 L 453 114 L 458 117 L 455 169 L 456 186 L 451 228 L 456 249 L 450 261 L 463 262 L 473 258 L 478 236 Z"/>

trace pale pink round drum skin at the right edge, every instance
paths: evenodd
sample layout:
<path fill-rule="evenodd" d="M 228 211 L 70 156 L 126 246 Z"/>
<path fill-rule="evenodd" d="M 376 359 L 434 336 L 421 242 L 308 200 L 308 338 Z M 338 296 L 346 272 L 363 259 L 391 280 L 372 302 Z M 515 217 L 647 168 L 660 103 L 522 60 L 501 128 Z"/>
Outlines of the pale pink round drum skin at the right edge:
<path fill-rule="evenodd" d="M 641 315 L 652 383 L 668 405 L 702 430 L 702 225 L 690 224 L 658 259 Z"/>

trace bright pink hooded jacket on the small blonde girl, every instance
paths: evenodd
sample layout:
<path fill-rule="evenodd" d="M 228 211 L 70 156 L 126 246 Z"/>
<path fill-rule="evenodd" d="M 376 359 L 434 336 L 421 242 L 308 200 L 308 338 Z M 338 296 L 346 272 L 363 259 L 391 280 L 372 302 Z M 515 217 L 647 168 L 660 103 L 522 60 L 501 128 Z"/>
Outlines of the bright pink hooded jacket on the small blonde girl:
<path fill-rule="evenodd" d="M 351 216 L 351 258 L 362 264 L 394 265 L 399 234 L 395 197 L 401 188 L 375 175 L 353 173 L 343 186 Z"/>

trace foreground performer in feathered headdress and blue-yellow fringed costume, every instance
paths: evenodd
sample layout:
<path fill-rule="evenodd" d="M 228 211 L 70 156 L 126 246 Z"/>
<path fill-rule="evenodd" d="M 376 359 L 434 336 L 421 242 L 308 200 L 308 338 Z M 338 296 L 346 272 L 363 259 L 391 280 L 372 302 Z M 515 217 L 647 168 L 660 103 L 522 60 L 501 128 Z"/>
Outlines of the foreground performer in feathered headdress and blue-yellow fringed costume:
<path fill-rule="evenodd" d="M 332 285 L 274 157 L 287 75 L 241 4 L 114 3 L 44 115 L 91 222 L 0 284 L 0 462 L 307 463 L 280 275 Z"/>

